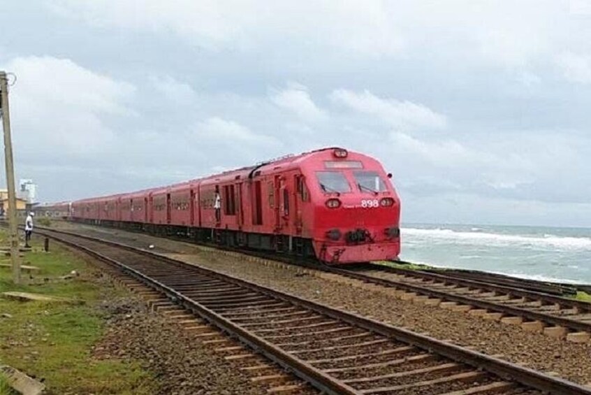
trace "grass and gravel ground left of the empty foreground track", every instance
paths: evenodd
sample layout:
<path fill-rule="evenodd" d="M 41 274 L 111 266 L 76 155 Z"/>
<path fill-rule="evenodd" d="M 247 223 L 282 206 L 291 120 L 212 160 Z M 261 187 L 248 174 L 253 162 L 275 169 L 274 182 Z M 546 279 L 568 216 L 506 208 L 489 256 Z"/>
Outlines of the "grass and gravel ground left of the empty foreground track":
<path fill-rule="evenodd" d="M 13 285 L 10 268 L 0 268 L 0 293 L 60 302 L 0 298 L 0 365 L 43 382 L 49 394 L 261 393 L 89 258 L 56 243 L 43 252 L 41 238 L 33 245 L 23 257 L 33 267 L 23 273 L 27 285 Z M 0 393 L 8 384 L 0 378 Z"/>

